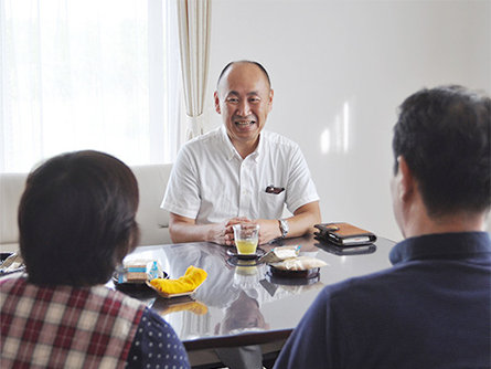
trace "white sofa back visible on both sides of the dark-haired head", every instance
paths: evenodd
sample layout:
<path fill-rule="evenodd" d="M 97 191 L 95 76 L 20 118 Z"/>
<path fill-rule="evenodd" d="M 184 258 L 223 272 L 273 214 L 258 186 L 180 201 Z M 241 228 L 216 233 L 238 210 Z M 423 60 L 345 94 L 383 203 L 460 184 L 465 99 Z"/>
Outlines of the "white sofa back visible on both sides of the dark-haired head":
<path fill-rule="evenodd" d="M 171 169 L 171 164 L 131 167 L 140 192 L 141 245 L 172 243 L 169 212 L 160 209 Z M 26 178 L 28 173 L 0 173 L 0 252 L 19 250 L 17 214 Z"/>

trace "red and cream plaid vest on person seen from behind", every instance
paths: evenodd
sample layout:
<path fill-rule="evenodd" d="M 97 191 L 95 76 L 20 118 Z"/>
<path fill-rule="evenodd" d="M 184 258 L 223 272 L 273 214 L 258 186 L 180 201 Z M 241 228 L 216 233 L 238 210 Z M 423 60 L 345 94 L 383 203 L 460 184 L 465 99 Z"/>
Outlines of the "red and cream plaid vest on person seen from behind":
<path fill-rule="evenodd" d="M 0 281 L 2 368 L 124 368 L 145 305 L 104 286 Z"/>

